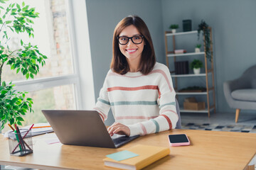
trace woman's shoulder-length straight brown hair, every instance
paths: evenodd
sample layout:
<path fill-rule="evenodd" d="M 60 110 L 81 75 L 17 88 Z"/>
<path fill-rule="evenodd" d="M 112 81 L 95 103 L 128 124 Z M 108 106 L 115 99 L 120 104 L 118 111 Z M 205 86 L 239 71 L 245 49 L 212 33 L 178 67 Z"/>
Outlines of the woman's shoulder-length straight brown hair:
<path fill-rule="evenodd" d="M 126 57 L 119 50 L 117 36 L 122 32 L 122 30 L 124 30 L 124 28 L 131 25 L 135 26 L 137 30 L 139 30 L 139 33 L 144 36 L 145 45 L 139 64 L 139 72 L 142 72 L 142 74 L 149 74 L 156 63 L 156 56 L 149 29 L 147 28 L 146 23 L 144 23 L 142 18 L 139 18 L 139 16 L 127 16 L 117 24 L 116 28 L 114 28 L 113 56 L 110 69 L 117 74 L 126 74 L 129 72 L 129 64 Z"/>

